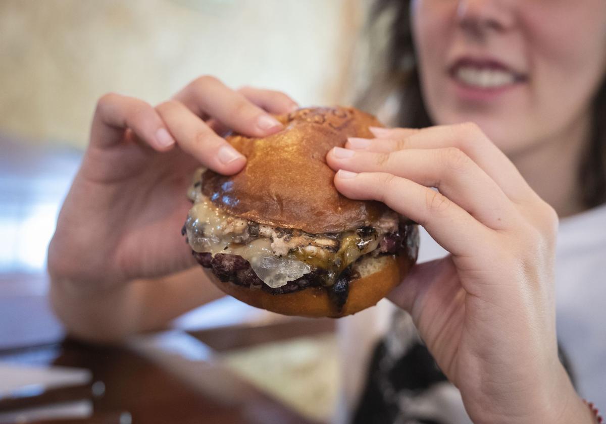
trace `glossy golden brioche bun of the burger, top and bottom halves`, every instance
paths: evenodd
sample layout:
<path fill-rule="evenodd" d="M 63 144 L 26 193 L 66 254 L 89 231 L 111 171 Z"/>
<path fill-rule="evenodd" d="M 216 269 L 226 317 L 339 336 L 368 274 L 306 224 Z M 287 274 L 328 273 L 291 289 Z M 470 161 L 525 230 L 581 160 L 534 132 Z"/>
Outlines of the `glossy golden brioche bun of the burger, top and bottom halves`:
<path fill-rule="evenodd" d="M 340 233 L 373 225 L 387 207 L 374 201 L 351 200 L 335 185 L 325 156 L 342 147 L 347 137 L 373 137 L 368 127 L 382 126 L 370 114 L 354 108 L 307 108 L 277 117 L 284 130 L 265 138 L 241 135 L 227 141 L 247 157 L 240 173 L 222 176 L 206 171 L 202 193 L 229 214 L 271 227 L 295 228 L 307 233 Z M 353 264 L 359 274 L 351 280 L 342 308 L 325 287 L 270 294 L 232 282 L 222 282 L 205 269 L 222 291 L 248 303 L 284 315 L 342 317 L 375 305 L 404 279 L 415 263 L 419 234 L 408 232 L 406 248 L 395 255 L 371 257 Z"/>

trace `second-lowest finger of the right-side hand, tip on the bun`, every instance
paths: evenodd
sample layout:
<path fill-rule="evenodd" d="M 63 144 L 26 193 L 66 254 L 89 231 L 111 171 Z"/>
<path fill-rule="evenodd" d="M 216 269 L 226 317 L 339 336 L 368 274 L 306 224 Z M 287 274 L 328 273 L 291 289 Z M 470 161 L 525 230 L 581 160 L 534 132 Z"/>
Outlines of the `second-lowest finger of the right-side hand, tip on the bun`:
<path fill-rule="evenodd" d="M 518 216 L 518 210 L 496 182 L 458 148 L 375 153 L 335 147 L 328 152 L 327 162 L 334 170 L 384 172 L 436 187 L 471 216 L 495 230 L 510 227 Z"/>

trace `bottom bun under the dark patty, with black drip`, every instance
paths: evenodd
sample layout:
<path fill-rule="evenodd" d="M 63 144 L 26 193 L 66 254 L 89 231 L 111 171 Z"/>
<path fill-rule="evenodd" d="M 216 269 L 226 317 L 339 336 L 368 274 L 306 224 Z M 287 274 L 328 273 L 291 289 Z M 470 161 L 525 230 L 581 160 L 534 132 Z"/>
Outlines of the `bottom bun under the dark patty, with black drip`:
<path fill-rule="evenodd" d="M 222 282 L 210 270 L 205 269 L 205 272 L 222 291 L 248 305 L 283 315 L 339 318 L 376 305 L 404 279 L 415 260 L 416 250 L 414 254 L 403 252 L 400 255 L 362 258 L 353 266 L 353 271 L 358 271 L 360 277 L 350 282 L 347 302 L 341 309 L 331 301 L 328 290 L 323 287 L 270 294 L 232 282 Z"/>

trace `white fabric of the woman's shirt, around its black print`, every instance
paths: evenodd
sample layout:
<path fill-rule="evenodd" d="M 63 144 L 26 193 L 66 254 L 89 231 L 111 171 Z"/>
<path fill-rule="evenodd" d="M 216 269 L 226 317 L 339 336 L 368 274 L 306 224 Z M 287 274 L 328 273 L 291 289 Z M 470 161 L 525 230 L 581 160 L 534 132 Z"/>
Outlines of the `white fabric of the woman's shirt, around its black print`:
<path fill-rule="evenodd" d="M 442 249 L 421 228 L 418 262 L 443 257 Z M 562 219 L 556 246 L 556 319 L 558 341 L 570 360 L 581 397 L 606 409 L 606 205 Z M 347 423 L 366 382 L 368 362 L 387 332 L 396 306 L 381 300 L 375 308 L 339 320 L 342 394 L 336 423 Z M 448 423 L 470 423 L 461 396 L 443 385 L 432 401 Z M 422 407 L 422 405 L 421 405 Z"/>

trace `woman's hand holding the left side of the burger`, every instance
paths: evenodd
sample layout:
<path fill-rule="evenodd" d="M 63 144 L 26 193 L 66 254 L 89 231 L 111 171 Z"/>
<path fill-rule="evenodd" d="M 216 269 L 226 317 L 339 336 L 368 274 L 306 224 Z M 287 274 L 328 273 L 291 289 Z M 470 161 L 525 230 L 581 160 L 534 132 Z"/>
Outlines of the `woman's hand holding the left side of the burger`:
<path fill-rule="evenodd" d="M 155 108 L 119 94 L 103 96 L 48 250 L 53 281 L 111 290 L 191 267 L 180 230 L 194 171 L 203 165 L 238 172 L 246 159 L 221 134 L 267 136 L 282 128 L 270 113 L 296 107 L 286 94 L 234 91 L 211 76 Z"/>

